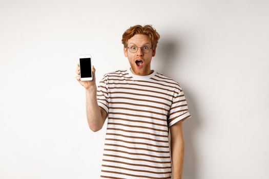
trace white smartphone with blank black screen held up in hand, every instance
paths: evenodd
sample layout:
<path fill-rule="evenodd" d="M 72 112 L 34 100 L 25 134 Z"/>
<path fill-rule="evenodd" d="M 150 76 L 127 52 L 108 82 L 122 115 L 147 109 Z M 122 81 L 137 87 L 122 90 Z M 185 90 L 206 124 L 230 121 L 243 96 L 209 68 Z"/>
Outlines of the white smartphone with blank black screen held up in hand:
<path fill-rule="evenodd" d="M 92 56 L 79 55 L 80 80 L 91 81 L 92 77 Z"/>

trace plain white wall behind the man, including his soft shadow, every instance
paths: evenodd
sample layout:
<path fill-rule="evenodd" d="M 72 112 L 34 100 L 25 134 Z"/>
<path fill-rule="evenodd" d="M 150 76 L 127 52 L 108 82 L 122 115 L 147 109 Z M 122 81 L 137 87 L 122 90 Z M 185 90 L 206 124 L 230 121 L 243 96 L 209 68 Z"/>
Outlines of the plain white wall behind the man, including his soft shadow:
<path fill-rule="evenodd" d="M 178 81 L 183 178 L 268 177 L 268 1 L 0 1 L 0 178 L 99 178 L 78 55 L 96 79 L 129 67 L 121 35 L 152 24 L 152 69 Z"/>

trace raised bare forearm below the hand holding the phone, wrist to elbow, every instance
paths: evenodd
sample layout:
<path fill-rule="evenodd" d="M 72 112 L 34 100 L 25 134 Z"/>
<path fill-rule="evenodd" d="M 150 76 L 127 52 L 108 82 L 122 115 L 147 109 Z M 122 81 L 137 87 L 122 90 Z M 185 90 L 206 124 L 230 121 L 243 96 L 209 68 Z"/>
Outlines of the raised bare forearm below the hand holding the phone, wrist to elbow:
<path fill-rule="evenodd" d="M 102 127 L 100 108 L 96 99 L 96 87 L 86 90 L 86 113 L 89 127 L 98 131 Z"/>

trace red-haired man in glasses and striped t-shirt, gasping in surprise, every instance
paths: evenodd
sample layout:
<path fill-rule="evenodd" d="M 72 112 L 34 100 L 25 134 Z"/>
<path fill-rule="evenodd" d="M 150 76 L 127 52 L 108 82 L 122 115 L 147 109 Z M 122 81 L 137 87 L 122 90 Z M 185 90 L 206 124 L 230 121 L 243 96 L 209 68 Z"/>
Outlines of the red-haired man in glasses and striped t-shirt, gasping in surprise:
<path fill-rule="evenodd" d="M 150 25 L 126 30 L 123 51 L 131 68 L 105 74 L 98 87 L 94 66 L 93 81 L 80 81 L 77 66 L 90 129 L 100 130 L 108 118 L 101 178 L 171 178 L 172 168 L 173 178 L 181 178 L 182 121 L 191 115 L 181 86 L 151 70 L 159 38 Z"/>

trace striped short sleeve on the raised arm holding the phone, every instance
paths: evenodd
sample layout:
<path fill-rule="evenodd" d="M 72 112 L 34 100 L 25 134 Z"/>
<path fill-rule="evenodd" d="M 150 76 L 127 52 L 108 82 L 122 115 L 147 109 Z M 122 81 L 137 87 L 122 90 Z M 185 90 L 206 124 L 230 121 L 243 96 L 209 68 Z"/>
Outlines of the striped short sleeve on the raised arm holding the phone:
<path fill-rule="evenodd" d="M 108 96 L 108 77 L 104 77 L 100 80 L 97 86 L 97 104 L 99 107 L 103 108 L 107 114 L 109 111 L 109 96 Z"/>

